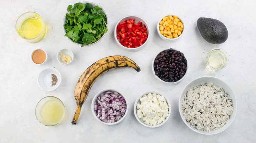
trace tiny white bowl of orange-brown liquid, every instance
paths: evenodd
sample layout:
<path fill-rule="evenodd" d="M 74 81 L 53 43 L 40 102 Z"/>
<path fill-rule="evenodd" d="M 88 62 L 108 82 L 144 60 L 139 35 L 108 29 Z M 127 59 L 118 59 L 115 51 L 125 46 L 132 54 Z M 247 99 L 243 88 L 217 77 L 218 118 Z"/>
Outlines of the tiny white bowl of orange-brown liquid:
<path fill-rule="evenodd" d="M 36 49 L 32 52 L 31 59 L 36 65 L 41 65 L 45 63 L 47 59 L 47 54 L 42 49 Z"/>

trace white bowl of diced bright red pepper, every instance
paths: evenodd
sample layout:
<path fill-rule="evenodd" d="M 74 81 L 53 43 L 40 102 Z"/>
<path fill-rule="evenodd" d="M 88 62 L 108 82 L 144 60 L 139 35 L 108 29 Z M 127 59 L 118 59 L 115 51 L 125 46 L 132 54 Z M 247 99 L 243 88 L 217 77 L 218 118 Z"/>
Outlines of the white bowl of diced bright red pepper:
<path fill-rule="evenodd" d="M 125 16 L 117 22 L 114 38 L 120 47 L 129 51 L 138 51 L 148 41 L 148 30 L 147 24 L 138 16 Z"/>

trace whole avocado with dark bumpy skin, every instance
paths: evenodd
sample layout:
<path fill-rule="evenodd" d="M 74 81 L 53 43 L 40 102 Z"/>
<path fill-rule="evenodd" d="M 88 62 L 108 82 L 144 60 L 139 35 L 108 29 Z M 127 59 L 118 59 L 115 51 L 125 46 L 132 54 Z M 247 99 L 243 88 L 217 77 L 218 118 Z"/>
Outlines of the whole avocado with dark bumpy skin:
<path fill-rule="evenodd" d="M 227 40 L 226 26 L 216 19 L 200 17 L 197 27 L 203 39 L 212 44 L 221 44 Z"/>

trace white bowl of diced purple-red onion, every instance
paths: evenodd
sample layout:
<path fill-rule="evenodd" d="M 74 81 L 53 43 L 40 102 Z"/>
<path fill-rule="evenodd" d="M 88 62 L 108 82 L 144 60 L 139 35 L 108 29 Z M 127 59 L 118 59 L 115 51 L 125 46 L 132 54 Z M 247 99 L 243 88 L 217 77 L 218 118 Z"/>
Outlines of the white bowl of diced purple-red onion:
<path fill-rule="evenodd" d="M 127 111 L 126 97 L 117 90 L 104 89 L 93 98 L 93 116 L 103 124 L 114 125 L 121 122 L 127 115 Z"/>

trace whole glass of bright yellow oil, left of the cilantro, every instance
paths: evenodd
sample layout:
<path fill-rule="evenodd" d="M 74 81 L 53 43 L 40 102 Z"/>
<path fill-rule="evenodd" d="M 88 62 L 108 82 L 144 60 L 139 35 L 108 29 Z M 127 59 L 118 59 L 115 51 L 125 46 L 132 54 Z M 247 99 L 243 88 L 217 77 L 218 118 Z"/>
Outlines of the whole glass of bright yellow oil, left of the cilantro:
<path fill-rule="evenodd" d="M 35 43 L 44 39 L 47 27 L 39 14 L 26 12 L 17 19 L 16 31 L 28 42 Z"/>

